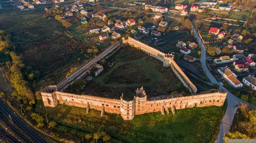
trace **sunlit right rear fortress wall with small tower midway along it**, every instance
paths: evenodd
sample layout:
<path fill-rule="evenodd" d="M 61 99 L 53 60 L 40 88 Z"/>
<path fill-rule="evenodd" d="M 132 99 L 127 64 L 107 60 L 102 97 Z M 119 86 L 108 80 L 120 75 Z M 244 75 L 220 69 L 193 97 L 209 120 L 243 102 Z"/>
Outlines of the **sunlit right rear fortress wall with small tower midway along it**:
<path fill-rule="evenodd" d="M 185 87 L 189 88 L 190 93 L 196 93 L 197 88 L 195 85 L 189 80 L 189 77 L 182 71 L 182 69 L 177 65 L 177 63 L 174 61 L 174 56 L 168 57 L 167 54 L 148 46 L 147 44 L 141 43 L 140 41 L 135 40 L 132 37 L 128 37 L 128 39 L 124 40 L 124 44 L 130 44 L 134 45 L 135 48 L 140 47 L 142 51 L 146 52 L 150 56 L 155 57 L 156 59 L 163 62 L 163 66 L 168 67 L 171 66 L 173 69 L 175 75 L 179 78 L 180 81 L 182 81 L 183 85 Z"/>

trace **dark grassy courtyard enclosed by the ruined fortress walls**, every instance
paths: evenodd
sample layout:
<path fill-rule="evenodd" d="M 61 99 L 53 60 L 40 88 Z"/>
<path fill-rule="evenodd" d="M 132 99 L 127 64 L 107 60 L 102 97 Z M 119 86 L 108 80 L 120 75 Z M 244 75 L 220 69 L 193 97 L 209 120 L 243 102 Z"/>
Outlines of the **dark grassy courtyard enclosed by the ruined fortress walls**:
<path fill-rule="evenodd" d="M 174 91 L 188 93 L 172 69 L 164 68 L 162 62 L 135 48 L 124 46 L 110 59 L 113 67 L 104 67 L 101 75 L 88 81 L 85 87 L 74 92 L 119 99 L 121 93 L 133 98 L 135 89 L 143 86 L 148 96 L 170 94 Z"/>

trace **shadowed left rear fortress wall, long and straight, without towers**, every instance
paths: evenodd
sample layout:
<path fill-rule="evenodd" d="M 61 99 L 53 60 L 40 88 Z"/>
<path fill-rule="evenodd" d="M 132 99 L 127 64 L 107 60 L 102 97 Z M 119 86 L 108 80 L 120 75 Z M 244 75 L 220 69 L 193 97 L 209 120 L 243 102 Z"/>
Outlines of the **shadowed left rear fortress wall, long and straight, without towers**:
<path fill-rule="evenodd" d="M 74 71 L 71 75 L 69 75 L 67 78 L 65 78 L 63 81 L 58 83 L 57 87 L 58 90 L 65 89 L 70 83 L 72 84 L 73 81 L 80 79 L 82 76 L 86 74 L 86 70 L 90 68 L 94 63 L 100 61 L 102 58 L 107 56 L 109 53 L 117 49 L 121 44 L 117 41 L 115 44 L 109 46 L 106 50 L 101 52 L 98 56 L 94 57 L 90 61 L 83 64 L 81 67 L 79 67 L 76 71 Z"/>

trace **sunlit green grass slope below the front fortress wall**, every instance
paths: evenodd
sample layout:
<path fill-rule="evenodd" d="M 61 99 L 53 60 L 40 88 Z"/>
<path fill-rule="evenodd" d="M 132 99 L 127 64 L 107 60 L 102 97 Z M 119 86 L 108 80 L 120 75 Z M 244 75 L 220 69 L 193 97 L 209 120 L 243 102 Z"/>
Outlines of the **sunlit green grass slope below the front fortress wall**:
<path fill-rule="evenodd" d="M 118 114 L 59 105 L 46 107 L 49 119 L 58 123 L 56 136 L 83 141 L 85 133 L 105 131 L 113 141 L 125 143 L 209 143 L 214 142 L 225 107 L 177 110 L 175 115 L 161 112 L 137 115 L 124 121 Z"/>

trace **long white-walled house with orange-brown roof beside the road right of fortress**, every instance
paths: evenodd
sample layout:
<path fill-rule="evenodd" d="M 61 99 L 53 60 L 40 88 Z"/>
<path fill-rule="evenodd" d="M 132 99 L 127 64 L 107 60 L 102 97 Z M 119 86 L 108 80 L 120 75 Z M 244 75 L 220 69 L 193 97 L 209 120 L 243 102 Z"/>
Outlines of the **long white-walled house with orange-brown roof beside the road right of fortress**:
<path fill-rule="evenodd" d="M 237 75 L 234 74 L 229 68 L 222 67 L 218 68 L 218 72 L 222 75 L 222 78 L 225 81 L 228 81 L 228 83 L 237 88 L 237 87 L 243 87 L 243 83 L 236 79 Z"/>

